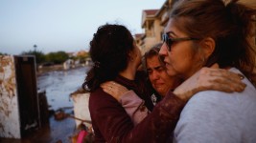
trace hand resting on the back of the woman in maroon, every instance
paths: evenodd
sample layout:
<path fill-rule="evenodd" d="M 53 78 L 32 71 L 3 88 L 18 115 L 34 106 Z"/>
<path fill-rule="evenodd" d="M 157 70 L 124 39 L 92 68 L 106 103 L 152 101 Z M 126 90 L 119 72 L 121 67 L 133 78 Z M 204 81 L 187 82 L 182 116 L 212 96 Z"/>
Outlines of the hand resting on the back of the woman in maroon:
<path fill-rule="evenodd" d="M 126 87 L 113 81 L 107 81 L 101 84 L 101 87 L 103 88 L 104 92 L 110 94 L 118 101 L 123 94 L 128 92 L 128 89 Z"/>

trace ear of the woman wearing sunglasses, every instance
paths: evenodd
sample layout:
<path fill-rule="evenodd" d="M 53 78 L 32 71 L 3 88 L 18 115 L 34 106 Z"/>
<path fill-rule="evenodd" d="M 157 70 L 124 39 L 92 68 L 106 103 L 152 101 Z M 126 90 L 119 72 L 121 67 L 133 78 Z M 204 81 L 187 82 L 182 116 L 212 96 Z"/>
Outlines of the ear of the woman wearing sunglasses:
<path fill-rule="evenodd" d="M 208 59 L 209 56 L 213 53 L 215 50 L 215 40 L 211 37 L 204 38 L 201 42 L 200 45 L 202 47 L 202 52 L 204 54 L 204 58 Z"/>

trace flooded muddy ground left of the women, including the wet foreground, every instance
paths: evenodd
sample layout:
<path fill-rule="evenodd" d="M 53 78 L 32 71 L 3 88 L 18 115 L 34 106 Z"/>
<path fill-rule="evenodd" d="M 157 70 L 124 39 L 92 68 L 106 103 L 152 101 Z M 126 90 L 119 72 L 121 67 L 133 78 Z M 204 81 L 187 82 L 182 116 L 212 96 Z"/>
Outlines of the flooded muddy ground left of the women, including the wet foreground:
<path fill-rule="evenodd" d="M 77 91 L 84 80 L 89 67 L 81 67 L 69 71 L 48 72 L 37 77 L 37 88 L 45 91 L 49 110 L 62 109 L 66 113 L 74 114 L 73 101 L 70 93 Z M 73 118 L 56 120 L 54 115 L 49 118 L 39 130 L 30 133 L 22 139 L 0 138 L 1 143 L 56 143 L 71 142 L 70 137 L 76 133 Z"/>

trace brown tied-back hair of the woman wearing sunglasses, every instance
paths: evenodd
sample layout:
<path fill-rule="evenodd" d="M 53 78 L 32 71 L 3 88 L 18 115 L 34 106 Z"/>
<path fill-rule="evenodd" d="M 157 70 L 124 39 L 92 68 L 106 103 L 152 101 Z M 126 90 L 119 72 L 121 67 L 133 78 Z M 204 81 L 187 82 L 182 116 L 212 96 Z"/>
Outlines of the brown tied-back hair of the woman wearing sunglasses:
<path fill-rule="evenodd" d="M 231 0 L 180 0 L 171 11 L 175 26 L 191 37 L 211 37 L 216 42 L 206 66 L 218 63 L 221 68 L 236 67 L 256 82 L 256 51 L 252 43 L 256 10 Z M 254 79 L 253 79 L 254 78 Z"/>

